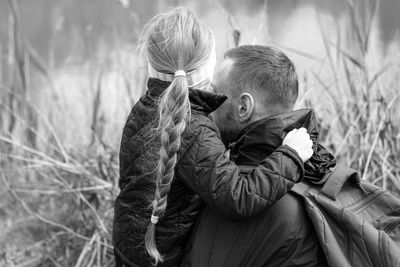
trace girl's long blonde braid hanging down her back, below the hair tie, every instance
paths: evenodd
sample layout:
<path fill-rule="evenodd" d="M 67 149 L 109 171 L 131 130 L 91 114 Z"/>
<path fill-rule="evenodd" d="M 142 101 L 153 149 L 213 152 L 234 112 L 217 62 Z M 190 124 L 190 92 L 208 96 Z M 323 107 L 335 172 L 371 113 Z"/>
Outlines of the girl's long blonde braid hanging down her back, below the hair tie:
<path fill-rule="evenodd" d="M 175 176 L 177 154 L 181 146 L 182 134 L 190 118 L 189 88 L 185 77 L 176 77 L 165 90 L 159 104 L 159 126 L 161 147 L 156 178 L 155 198 L 152 203 L 152 218 L 162 217 L 167 208 L 168 193 Z M 155 264 L 162 261 L 155 241 L 155 225 L 148 226 L 145 245 Z"/>

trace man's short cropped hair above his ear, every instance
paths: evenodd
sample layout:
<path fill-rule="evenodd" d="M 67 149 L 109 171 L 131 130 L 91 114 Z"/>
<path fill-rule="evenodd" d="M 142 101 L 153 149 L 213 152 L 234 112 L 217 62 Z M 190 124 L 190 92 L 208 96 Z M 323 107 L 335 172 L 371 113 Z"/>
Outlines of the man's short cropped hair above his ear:
<path fill-rule="evenodd" d="M 280 50 L 262 45 L 243 45 L 228 50 L 233 60 L 232 84 L 265 94 L 267 105 L 292 110 L 298 95 L 298 78 L 293 62 Z"/>

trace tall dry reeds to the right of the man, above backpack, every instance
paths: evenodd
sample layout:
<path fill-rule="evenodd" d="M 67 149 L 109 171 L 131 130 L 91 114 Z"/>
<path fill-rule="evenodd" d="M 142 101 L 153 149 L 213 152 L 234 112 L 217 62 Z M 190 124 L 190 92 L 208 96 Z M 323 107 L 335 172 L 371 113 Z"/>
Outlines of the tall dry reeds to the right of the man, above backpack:
<path fill-rule="evenodd" d="M 340 35 L 337 40 L 329 39 L 320 25 L 331 77 L 311 73 L 315 90 L 324 93 L 315 99 L 311 92 L 305 104 L 321 110 L 324 144 L 340 164 L 399 195 L 400 40 L 393 42 L 386 54 L 374 47 L 379 45 L 371 38 L 378 4 L 360 9 L 348 1 L 351 27 L 345 42 Z M 306 83 L 305 90 L 309 89 Z"/>

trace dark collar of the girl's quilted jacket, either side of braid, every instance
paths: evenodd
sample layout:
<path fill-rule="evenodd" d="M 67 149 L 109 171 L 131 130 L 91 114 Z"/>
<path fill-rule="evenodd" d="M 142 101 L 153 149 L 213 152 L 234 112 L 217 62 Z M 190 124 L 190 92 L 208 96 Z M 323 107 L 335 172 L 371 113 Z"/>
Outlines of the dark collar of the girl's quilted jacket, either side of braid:
<path fill-rule="evenodd" d="M 147 81 L 148 90 L 146 94 L 151 99 L 157 99 L 170 84 L 170 82 L 149 78 Z M 208 115 L 219 108 L 226 99 L 227 97 L 225 95 L 215 94 L 198 89 L 189 89 L 191 109 L 203 112 L 205 115 Z"/>

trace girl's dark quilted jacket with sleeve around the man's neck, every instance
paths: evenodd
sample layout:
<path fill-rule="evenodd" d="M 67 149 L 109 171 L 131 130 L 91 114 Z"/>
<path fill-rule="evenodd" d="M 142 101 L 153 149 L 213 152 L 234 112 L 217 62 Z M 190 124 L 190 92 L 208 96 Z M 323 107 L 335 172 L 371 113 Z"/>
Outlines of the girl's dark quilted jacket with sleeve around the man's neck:
<path fill-rule="evenodd" d="M 159 142 L 151 133 L 157 123 L 157 99 L 169 85 L 156 79 L 132 108 L 120 150 L 121 189 L 115 201 L 113 242 L 117 265 L 149 266 L 144 234 L 150 223 L 154 199 Z M 226 99 L 190 90 L 191 120 L 183 133 L 175 178 L 166 212 L 156 226 L 157 248 L 165 256 L 160 266 L 178 266 L 187 237 L 203 201 L 231 218 L 255 215 L 283 197 L 303 177 L 297 153 L 280 146 L 251 172 L 239 168 L 225 155 L 215 124 L 207 115 Z"/>

